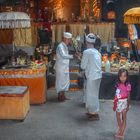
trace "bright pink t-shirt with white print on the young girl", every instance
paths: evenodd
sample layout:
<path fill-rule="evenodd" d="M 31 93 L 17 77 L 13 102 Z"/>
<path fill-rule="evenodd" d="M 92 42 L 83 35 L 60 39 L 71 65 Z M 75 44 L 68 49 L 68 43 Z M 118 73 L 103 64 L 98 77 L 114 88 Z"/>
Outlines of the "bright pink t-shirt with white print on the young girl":
<path fill-rule="evenodd" d="M 116 96 L 118 99 L 127 98 L 128 93 L 131 91 L 131 84 L 118 84 L 116 90 Z"/>

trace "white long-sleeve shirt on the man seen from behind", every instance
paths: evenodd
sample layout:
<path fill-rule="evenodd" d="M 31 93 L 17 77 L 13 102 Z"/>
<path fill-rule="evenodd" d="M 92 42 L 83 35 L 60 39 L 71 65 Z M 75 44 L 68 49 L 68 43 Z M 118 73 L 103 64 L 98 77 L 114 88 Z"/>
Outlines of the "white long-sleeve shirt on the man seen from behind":
<path fill-rule="evenodd" d="M 89 48 L 83 52 L 81 68 L 85 70 L 87 79 L 96 80 L 102 78 L 101 54 L 95 48 Z"/>

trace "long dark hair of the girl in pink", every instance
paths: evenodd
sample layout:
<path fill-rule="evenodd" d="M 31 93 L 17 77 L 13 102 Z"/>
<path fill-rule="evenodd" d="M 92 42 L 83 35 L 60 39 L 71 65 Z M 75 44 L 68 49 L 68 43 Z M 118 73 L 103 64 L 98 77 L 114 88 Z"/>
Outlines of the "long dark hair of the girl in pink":
<path fill-rule="evenodd" d="M 117 85 L 118 84 L 120 84 L 121 83 L 121 81 L 120 81 L 120 76 L 122 75 L 122 73 L 126 73 L 126 77 L 127 77 L 127 79 L 126 79 L 126 81 L 125 81 L 125 85 L 128 85 L 129 84 L 129 74 L 128 74 L 128 71 L 126 70 L 126 69 L 120 69 L 119 70 L 119 72 L 118 72 L 118 81 L 117 81 Z M 117 86 L 116 85 L 116 86 Z"/>

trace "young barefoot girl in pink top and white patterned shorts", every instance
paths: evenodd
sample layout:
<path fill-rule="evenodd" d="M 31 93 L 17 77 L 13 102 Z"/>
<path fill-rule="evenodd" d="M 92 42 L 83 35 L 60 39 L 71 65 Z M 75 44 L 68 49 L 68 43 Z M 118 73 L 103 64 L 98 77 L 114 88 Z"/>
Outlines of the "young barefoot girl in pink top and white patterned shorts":
<path fill-rule="evenodd" d="M 118 72 L 118 82 L 116 84 L 116 95 L 113 110 L 116 111 L 118 132 L 115 137 L 124 138 L 126 129 L 127 111 L 130 104 L 131 85 L 128 81 L 128 71 L 120 69 Z"/>

